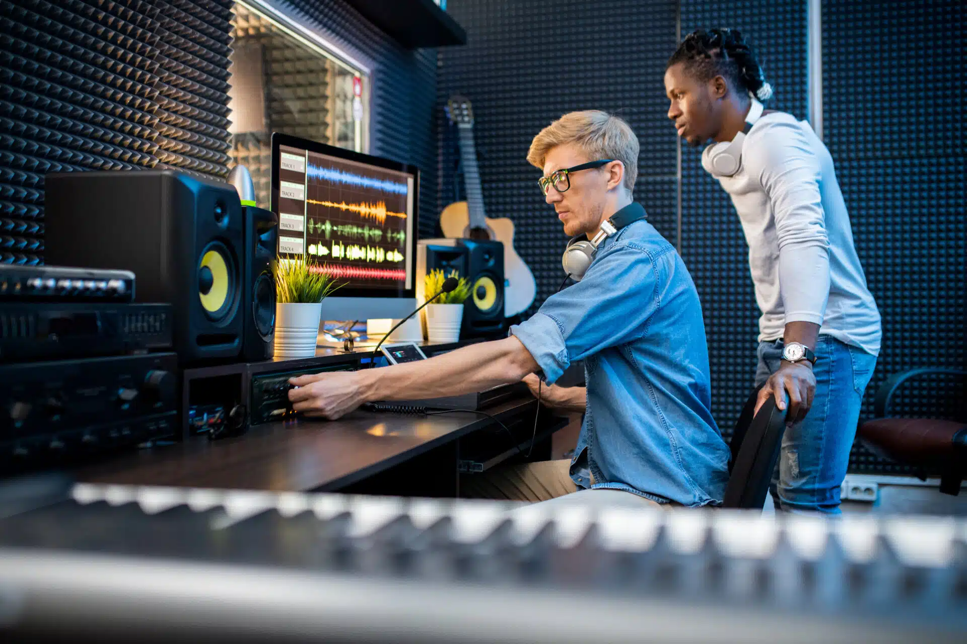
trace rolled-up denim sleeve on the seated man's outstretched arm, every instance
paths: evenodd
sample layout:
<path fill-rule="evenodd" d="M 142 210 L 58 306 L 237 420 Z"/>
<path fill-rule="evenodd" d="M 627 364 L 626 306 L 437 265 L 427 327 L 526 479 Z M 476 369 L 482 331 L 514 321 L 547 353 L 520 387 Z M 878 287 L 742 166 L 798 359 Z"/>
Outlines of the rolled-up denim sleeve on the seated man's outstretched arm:
<path fill-rule="evenodd" d="M 571 362 L 642 337 L 659 306 L 658 269 L 630 244 L 608 248 L 580 282 L 544 300 L 511 334 L 553 384 Z"/>

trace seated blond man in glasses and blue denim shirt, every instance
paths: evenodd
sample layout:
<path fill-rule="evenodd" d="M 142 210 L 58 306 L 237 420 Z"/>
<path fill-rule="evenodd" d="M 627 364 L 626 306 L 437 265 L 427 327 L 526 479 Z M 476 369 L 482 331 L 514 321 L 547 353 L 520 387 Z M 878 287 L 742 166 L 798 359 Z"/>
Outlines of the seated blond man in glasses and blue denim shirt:
<path fill-rule="evenodd" d="M 548 406 L 584 412 L 571 461 L 496 467 L 461 495 L 700 507 L 721 503 L 729 451 L 711 412 L 698 294 L 682 259 L 631 198 L 638 139 L 621 119 L 571 112 L 527 160 L 571 237 L 574 280 L 503 340 L 429 360 L 294 378 L 297 411 L 337 418 L 369 401 L 451 396 L 521 378 Z M 554 385 L 583 361 L 585 387 Z M 540 376 L 539 376 L 540 375 Z"/>

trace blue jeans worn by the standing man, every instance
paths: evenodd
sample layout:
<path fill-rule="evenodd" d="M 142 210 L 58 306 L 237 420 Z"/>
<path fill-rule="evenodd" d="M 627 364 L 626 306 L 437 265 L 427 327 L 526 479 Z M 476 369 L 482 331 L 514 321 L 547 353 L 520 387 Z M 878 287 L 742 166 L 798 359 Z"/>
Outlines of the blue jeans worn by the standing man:
<path fill-rule="evenodd" d="M 778 370 L 782 346 L 781 339 L 759 343 L 756 386 Z M 770 491 L 777 509 L 838 515 L 839 487 L 876 356 L 828 335 L 819 336 L 815 353 L 812 406 L 806 418 L 787 427 L 782 436 Z"/>

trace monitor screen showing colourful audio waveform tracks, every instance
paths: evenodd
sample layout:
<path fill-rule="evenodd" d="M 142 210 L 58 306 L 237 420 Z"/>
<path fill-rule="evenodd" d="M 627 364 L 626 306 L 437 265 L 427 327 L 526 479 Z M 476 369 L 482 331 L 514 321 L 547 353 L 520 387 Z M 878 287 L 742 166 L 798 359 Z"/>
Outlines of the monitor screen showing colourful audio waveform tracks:
<path fill-rule="evenodd" d="M 325 266 L 348 289 L 413 288 L 414 174 L 278 148 L 278 254 Z"/>

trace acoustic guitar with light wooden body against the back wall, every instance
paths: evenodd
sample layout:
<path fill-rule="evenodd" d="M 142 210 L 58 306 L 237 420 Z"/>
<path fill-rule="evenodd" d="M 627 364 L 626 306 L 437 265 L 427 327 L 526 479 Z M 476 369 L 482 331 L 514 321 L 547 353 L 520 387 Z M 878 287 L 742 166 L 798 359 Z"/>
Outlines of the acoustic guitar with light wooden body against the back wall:
<path fill-rule="evenodd" d="M 513 248 L 513 221 L 491 219 L 484 213 L 484 191 L 474 146 L 473 106 L 467 98 L 453 96 L 447 102 L 447 117 L 459 134 L 460 161 L 467 200 L 451 204 L 440 213 L 440 228 L 451 239 L 491 239 L 504 244 L 504 316 L 523 313 L 534 302 L 538 284 L 531 269 Z"/>

